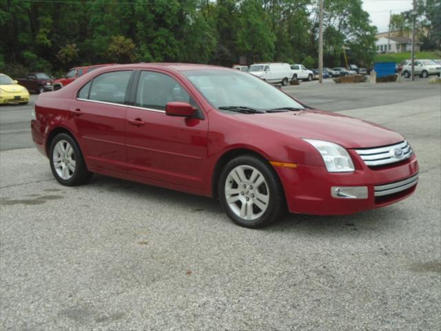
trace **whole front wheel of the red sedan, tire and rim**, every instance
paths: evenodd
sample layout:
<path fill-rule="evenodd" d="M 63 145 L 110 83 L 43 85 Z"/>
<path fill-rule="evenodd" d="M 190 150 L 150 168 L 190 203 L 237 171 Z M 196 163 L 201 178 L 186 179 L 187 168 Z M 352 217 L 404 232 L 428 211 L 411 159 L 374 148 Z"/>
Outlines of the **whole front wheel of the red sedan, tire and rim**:
<path fill-rule="evenodd" d="M 265 161 L 249 155 L 225 165 L 218 197 L 227 216 L 245 228 L 262 228 L 286 211 L 285 194 L 276 172 Z"/>

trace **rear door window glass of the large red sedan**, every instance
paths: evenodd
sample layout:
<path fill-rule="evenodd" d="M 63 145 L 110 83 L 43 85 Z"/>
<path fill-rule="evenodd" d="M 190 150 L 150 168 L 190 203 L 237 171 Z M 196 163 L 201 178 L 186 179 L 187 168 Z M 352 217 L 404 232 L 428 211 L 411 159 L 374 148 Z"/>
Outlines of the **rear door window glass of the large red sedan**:
<path fill-rule="evenodd" d="M 100 74 L 92 81 L 88 99 L 123 104 L 131 74 L 132 70 Z M 86 86 L 84 86 L 83 89 L 86 88 Z M 83 89 L 80 90 L 80 93 Z"/>

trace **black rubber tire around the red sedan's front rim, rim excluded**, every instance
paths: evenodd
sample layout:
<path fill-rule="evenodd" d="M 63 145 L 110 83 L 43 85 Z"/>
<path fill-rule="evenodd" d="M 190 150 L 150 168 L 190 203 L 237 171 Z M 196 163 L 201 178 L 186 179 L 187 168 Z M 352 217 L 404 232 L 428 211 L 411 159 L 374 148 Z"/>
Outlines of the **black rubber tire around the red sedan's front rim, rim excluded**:
<path fill-rule="evenodd" d="M 265 210 L 262 216 L 260 216 L 258 219 L 249 221 L 240 219 L 240 217 L 238 217 L 231 210 L 227 203 L 227 199 L 225 197 L 225 182 L 227 181 L 229 172 L 239 165 L 250 165 L 256 168 L 261 174 L 263 174 L 263 177 L 265 177 L 269 191 L 269 203 L 267 210 Z M 234 223 L 245 228 L 261 228 L 272 223 L 272 221 L 274 221 L 274 219 L 280 215 L 280 212 L 283 211 L 283 206 L 285 206 L 285 196 L 283 196 L 283 201 L 280 201 L 282 200 L 280 199 L 280 190 L 281 186 L 276 172 L 271 170 L 270 165 L 251 155 L 244 155 L 229 161 L 223 168 L 218 182 L 218 197 L 220 200 L 220 205 L 222 205 L 223 210 Z M 283 205 L 280 205 L 281 202 L 283 202 Z"/>

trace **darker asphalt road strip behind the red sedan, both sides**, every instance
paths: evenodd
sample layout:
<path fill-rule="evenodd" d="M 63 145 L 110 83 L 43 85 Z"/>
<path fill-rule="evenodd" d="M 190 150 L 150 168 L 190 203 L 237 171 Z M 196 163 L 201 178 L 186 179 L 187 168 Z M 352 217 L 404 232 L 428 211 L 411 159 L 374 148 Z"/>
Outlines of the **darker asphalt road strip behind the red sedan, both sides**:
<path fill-rule="evenodd" d="M 287 86 L 285 92 L 322 110 L 338 111 L 351 108 L 382 106 L 397 101 L 409 101 L 440 94 L 440 86 L 429 84 L 428 79 L 411 83 L 336 84 L 326 79 L 300 82 L 300 86 Z M 32 95 L 28 106 L 0 106 L 0 150 L 33 147 L 30 136 L 30 112 L 37 96 Z"/>

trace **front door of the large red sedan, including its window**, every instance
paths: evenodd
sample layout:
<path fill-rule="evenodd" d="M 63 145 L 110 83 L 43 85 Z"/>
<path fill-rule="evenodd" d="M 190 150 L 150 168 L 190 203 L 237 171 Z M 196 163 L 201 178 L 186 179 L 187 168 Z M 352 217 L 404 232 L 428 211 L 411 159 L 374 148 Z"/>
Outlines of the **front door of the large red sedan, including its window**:
<path fill-rule="evenodd" d="M 134 106 L 127 108 L 125 132 L 128 172 L 175 185 L 203 188 L 207 120 L 177 77 L 141 71 L 134 86 Z M 198 108 L 198 118 L 165 114 L 170 101 Z"/>

